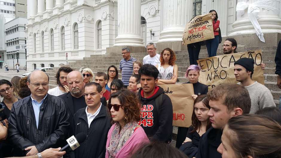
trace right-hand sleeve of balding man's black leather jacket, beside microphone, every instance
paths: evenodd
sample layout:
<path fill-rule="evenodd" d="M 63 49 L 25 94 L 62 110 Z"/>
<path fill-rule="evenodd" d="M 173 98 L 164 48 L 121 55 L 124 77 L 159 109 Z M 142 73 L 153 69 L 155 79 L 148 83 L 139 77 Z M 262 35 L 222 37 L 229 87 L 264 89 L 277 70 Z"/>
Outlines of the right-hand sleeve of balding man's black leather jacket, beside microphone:
<path fill-rule="evenodd" d="M 59 141 L 64 141 L 69 130 L 69 113 L 66 109 L 66 106 L 62 106 L 64 109 L 59 111 L 59 122 L 58 128 L 54 133 L 50 134 L 45 138 L 41 143 L 36 144 L 35 147 L 39 152 L 44 151 L 47 148 L 50 148 L 52 145 L 57 144 Z"/>

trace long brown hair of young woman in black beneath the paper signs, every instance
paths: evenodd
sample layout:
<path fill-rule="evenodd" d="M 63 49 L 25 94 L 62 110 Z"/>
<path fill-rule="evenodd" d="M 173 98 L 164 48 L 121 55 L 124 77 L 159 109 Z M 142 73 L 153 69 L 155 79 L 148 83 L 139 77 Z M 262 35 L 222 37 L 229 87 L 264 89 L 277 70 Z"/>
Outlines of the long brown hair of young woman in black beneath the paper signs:
<path fill-rule="evenodd" d="M 210 105 L 209 105 L 209 98 L 207 97 L 206 94 L 202 94 L 197 96 L 197 98 L 194 100 L 194 105 L 198 102 L 202 102 L 205 108 L 210 109 Z M 194 111 L 194 105 L 193 105 L 193 113 L 191 116 L 191 121 L 192 121 L 192 125 L 194 127 L 194 129 L 190 132 L 190 133 L 194 133 L 197 131 L 197 129 L 199 129 L 200 131 L 200 127 L 201 127 L 201 121 L 198 120 L 198 118 L 196 117 L 195 111 Z M 206 131 L 212 126 L 210 119 L 208 119 L 207 121 L 207 127 L 206 127 Z"/>

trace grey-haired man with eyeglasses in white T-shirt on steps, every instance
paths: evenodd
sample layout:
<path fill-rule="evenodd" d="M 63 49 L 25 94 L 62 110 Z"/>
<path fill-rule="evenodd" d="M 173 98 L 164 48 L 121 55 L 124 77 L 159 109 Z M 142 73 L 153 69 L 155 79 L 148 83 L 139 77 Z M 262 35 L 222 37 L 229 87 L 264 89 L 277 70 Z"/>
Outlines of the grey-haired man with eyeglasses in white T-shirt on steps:
<path fill-rule="evenodd" d="M 157 65 L 160 64 L 160 54 L 156 53 L 156 45 L 155 43 L 148 43 L 146 45 L 146 50 L 148 55 L 143 58 L 143 65 L 150 64 L 150 65 Z"/>

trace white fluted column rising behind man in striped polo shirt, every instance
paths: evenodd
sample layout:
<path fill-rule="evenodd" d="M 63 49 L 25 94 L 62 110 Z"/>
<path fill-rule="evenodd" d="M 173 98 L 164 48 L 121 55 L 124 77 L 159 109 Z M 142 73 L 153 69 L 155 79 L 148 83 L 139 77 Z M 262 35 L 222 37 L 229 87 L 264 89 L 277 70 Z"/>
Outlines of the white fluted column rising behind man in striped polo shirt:
<path fill-rule="evenodd" d="M 118 36 L 114 47 L 143 47 L 141 38 L 141 0 L 118 0 Z M 108 13 L 103 12 L 102 17 Z"/>

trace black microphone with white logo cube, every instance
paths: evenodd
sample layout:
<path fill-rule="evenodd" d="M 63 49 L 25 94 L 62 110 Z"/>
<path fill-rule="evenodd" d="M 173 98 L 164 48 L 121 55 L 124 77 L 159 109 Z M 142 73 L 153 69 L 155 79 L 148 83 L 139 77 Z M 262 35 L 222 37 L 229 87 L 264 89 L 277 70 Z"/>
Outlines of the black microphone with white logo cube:
<path fill-rule="evenodd" d="M 72 150 L 75 150 L 80 146 L 81 143 L 83 143 L 86 139 L 86 134 L 81 132 L 76 134 L 76 136 L 71 136 L 70 138 L 66 139 L 66 142 L 68 143 L 60 151 L 64 151 L 66 148 L 70 147 Z"/>

